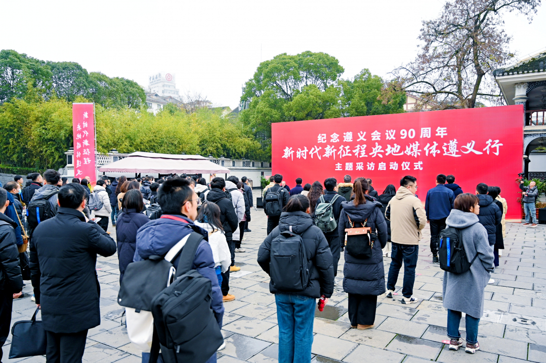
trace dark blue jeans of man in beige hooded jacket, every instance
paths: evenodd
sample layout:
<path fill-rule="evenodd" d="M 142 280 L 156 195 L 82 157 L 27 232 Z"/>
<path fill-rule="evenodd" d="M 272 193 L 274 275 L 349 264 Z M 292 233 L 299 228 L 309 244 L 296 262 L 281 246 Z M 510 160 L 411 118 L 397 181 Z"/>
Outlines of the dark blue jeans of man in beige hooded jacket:
<path fill-rule="evenodd" d="M 413 283 L 415 282 L 415 268 L 417 266 L 417 254 L 419 245 L 402 245 L 399 243 L 391 243 L 392 252 L 390 253 L 389 277 L 387 280 L 387 288 L 394 291 L 398 273 L 404 263 L 404 282 L 402 287 L 402 295 L 405 298 L 411 298 L 413 294 Z"/>

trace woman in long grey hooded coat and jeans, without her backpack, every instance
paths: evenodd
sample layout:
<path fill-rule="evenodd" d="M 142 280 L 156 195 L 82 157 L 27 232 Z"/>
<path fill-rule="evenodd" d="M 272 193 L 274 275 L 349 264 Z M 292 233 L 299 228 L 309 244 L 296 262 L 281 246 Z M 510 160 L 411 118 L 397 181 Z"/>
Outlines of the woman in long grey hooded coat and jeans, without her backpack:
<path fill-rule="evenodd" d="M 455 198 L 454 209 L 447 217 L 446 225 L 460 229 L 466 258 L 468 262 L 475 259 L 467 271 L 460 274 L 444 271 L 443 278 L 443 306 L 448 309 L 449 349 L 458 350 L 462 346 L 459 324 L 461 313 L 464 312 L 466 314 L 466 352 L 472 354 L 479 349 L 478 324 L 483 315 L 484 289 L 493 271 L 493 250 L 489 246 L 485 227 L 479 223 L 478 214 L 478 197 L 471 193 L 464 193 Z M 441 245 L 440 250 L 442 250 Z M 440 255 L 442 255 L 441 251 Z M 440 264 L 443 263 L 445 262 L 440 257 Z"/>

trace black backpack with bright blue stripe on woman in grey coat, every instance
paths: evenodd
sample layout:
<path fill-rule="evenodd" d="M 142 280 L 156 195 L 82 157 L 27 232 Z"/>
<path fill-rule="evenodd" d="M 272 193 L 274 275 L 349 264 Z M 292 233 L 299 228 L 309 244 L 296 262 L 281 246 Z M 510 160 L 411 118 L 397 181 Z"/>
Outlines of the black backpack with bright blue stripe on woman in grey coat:
<path fill-rule="evenodd" d="M 442 270 L 454 274 L 462 274 L 470 269 L 476 257 L 478 257 L 478 253 L 476 253 L 471 262 L 468 262 L 459 228 L 447 227 L 440 232 L 438 258 L 440 259 L 440 268 Z"/>

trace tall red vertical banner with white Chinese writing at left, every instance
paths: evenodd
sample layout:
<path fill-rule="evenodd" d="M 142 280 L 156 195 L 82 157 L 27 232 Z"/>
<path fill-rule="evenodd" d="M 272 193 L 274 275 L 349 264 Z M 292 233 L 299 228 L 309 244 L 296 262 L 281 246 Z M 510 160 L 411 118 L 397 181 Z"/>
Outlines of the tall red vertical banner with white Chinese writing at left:
<path fill-rule="evenodd" d="M 89 177 L 97 181 L 95 165 L 95 106 L 72 104 L 72 132 L 74 135 L 74 177 Z"/>

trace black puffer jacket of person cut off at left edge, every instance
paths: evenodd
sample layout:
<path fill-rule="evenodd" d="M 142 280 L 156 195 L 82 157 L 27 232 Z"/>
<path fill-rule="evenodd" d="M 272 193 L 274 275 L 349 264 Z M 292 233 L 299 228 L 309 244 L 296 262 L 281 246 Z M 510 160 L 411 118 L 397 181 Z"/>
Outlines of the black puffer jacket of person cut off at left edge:
<path fill-rule="evenodd" d="M 15 239 L 16 226 L 14 221 L 0 213 L 0 288 L 8 294 L 19 293 L 23 288 Z"/>

